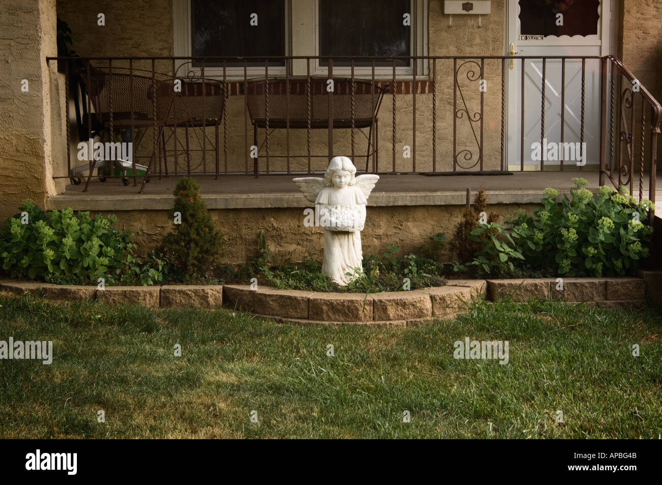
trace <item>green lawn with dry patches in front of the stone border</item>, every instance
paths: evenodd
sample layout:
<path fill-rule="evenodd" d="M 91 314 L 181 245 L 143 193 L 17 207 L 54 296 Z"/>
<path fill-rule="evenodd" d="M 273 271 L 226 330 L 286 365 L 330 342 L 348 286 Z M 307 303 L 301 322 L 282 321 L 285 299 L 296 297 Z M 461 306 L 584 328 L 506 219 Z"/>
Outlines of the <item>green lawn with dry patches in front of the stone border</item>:
<path fill-rule="evenodd" d="M 0 304 L 1 340 L 54 341 L 52 365 L 0 361 L 2 438 L 662 433 L 662 317 L 651 309 L 477 302 L 456 320 L 390 328 L 8 294 Z M 467 336 L 508 340 L 510 363 L 453 359 Z"/>

